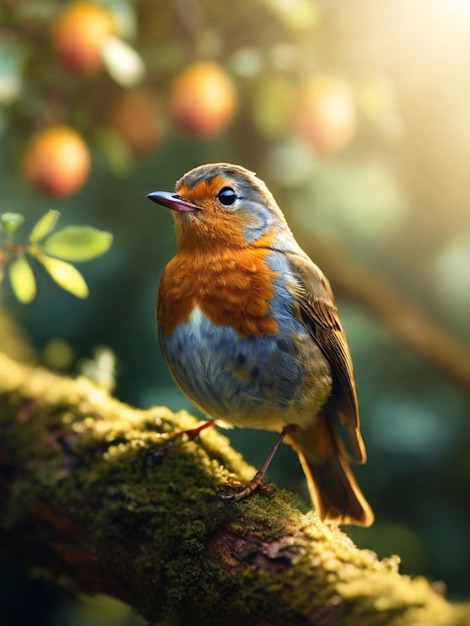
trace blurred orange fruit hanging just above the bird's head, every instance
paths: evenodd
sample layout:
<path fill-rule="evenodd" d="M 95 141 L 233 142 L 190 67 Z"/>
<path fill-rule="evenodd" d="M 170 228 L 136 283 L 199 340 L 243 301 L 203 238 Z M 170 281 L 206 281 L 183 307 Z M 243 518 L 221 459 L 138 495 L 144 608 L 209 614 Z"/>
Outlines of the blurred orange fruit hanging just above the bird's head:
<path fill-rule="evenodd" d="M 170 115 L 174 125 L 193 137 L 211 137 L 233 118 L 238 105 L 235 85 L 217 63 L 189 65 L 174 80 Z"/>

